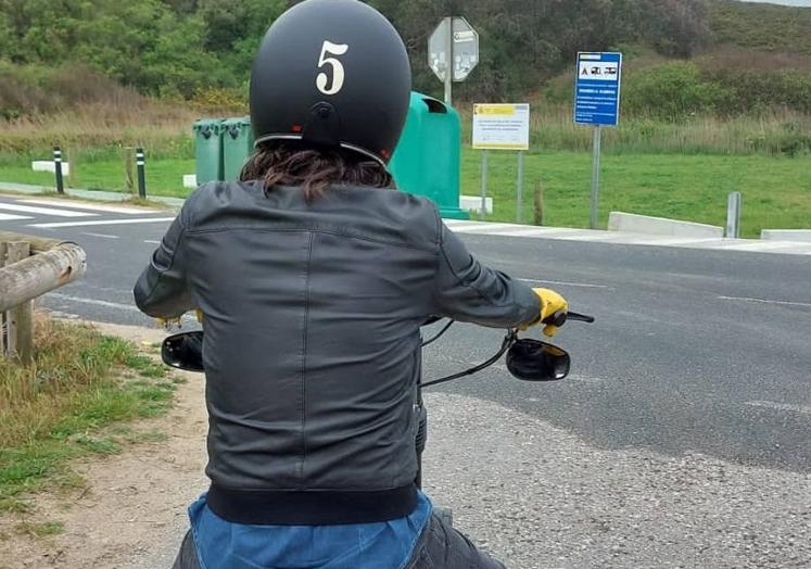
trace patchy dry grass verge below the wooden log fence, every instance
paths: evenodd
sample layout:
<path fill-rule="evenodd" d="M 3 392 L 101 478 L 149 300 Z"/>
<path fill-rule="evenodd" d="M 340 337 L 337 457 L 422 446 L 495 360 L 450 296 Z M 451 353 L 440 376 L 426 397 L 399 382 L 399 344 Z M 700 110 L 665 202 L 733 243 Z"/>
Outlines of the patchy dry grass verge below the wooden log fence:
<path fill-rule="evenodd" d="M 81 486 L 73 458 L 160 440 L 121 421 L 164 413 L 175 389 L 162 365 L 90 327 L 37 318 L 35 341 L 31 365 L 0 359 L 0 511 L 26 510 L 43 488 Z"/>

